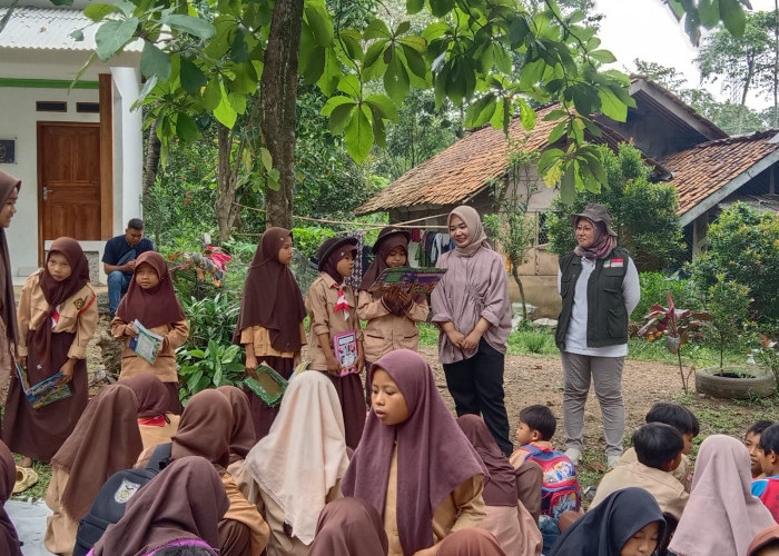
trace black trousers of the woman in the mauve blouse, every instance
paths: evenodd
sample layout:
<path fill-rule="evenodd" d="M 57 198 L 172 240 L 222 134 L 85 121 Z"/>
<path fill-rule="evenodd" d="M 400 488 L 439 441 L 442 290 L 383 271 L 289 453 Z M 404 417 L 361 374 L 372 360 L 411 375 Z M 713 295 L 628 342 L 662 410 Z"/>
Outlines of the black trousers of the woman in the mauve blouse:
<path fill-rule="evenodd" d="M 509 439 L 509 416 L 503 403 L 504 359 L 503 354 L 482 338 L 476 355 L 444 364 L 444 373 L 457 417 L 481 415 L 497 446 L 510 456 L 514 446 Z"/>

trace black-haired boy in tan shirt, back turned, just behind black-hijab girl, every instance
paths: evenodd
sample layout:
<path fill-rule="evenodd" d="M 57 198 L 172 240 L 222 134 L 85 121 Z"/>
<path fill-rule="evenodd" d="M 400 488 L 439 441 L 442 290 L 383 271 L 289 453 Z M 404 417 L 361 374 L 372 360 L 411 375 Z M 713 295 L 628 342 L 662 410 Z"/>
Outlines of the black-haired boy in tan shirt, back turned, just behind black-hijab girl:
<path fill-rule="evenodd" d="M 633 433 L 638 461 L 621 464 L 607 473 L 598 485 L 590 508 L 598 506 L 611 493 L 627 487 L 648 490 L 663 513 L 680 519 L 690 495 L 669 474 L 679 466 L 684 440 L 679 431 L 663 423 L 648 423 Z"/>

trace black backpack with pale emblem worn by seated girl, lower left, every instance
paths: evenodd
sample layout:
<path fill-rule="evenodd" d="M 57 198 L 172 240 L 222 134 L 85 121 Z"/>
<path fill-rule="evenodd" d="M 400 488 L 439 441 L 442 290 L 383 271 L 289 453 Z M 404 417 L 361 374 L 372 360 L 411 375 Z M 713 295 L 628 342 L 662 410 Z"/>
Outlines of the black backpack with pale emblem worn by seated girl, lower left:
<path fill-rule="evenodd" d="M 145 468 L 122 469 L 108 477 L 98 490 L 89 514 L 83 516 L 78 525 L 73 556 L 86 556 L 95 543 L 100 540 L 106 528 L 121 519 L 127 500 L 170 463 L 171 449 L 171 443 L 160 444 L 155 448 Z"/>

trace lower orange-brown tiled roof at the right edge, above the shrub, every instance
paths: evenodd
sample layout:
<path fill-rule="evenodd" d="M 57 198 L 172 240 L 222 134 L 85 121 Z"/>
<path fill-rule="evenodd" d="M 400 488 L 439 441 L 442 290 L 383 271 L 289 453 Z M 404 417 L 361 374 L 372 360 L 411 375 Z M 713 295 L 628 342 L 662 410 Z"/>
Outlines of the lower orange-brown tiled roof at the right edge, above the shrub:
<path fill-rule="evenodd" d="M 672 172 L 679 193 L 679 215 L 727 186 L 736 177 L 779 148 L 777 130 L 729 137 L 668 156 L 660 162 Z"/>

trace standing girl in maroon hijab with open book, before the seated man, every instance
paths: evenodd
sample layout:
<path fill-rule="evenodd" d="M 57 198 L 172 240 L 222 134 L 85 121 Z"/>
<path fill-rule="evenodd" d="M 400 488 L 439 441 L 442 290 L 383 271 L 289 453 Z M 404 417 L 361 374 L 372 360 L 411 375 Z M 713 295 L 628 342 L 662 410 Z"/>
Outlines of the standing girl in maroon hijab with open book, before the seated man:
<path fill-rule="evenodd" d="M 138 334 L 132 325 L 136 320 L 162 337 L 162 346 L 154 365 L 138 357 L 129 347 L 130 338 Z M 142 374 L 157 375 L 169 393 L 167 410 L 179 415 L 181 403 L 178 399 L 176 348 L 189 337 L 189 325 L 160 254 L 146 251 L 136 259 L 127 295 L 111 321 L 111 336 L 125 341 L 119 379 Z"/>

